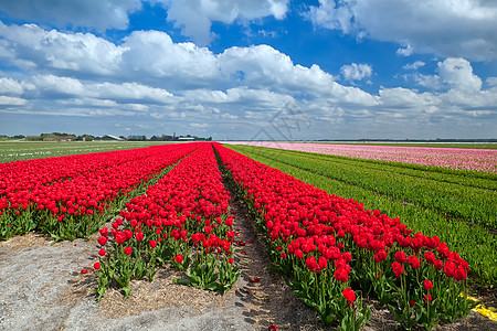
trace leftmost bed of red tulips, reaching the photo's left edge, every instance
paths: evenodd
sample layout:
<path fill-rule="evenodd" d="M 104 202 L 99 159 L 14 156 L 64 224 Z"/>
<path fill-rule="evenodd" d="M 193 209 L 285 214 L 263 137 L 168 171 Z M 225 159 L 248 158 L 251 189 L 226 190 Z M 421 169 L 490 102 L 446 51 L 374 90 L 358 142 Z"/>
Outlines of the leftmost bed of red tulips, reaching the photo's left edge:
<path fill-rule="evenodd" d="M 38 173 L 28 171 L 28 179 L 19 185 L 11 181 L 18 174 L 2 174 L 1 182 L 6 188 L 0 196 L 0 239 L 31 229 L 40 229 L 55 239 L 88 236 L 112 217 L 115 209 L 124 206 L 131 192 L 199 147 L 199 143 L 170 145 L 61 157 L 53 162 L 65 171 L 41 167 Z M 76 174 L 85 162 L 92 168 L 82 167 L 83 172 Z M 24 161 L 22 167 L 14 169 L 19 168 L 17 171 L 22 173 L 35 169 L 39 163 L 39 160 Z"/>

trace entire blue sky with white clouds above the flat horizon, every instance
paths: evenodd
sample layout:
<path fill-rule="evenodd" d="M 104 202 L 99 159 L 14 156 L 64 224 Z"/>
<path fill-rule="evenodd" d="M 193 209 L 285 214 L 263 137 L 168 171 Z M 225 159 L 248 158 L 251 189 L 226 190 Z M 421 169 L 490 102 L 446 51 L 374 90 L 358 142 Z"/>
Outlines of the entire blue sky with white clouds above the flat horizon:
<path fill-rule="evenodd" d="M 0 0 L 0 134 L 497 138 L 495 0 Z"/>

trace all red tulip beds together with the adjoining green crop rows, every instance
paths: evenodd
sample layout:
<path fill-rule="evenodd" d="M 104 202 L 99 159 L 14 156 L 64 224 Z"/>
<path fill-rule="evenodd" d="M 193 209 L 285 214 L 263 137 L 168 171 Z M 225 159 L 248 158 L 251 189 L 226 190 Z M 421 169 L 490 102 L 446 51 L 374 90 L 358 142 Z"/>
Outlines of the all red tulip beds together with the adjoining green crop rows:
<path fill-rule="evenodd" d="M 324 325 L 358 329 L 376 300 L 403 328 L 431 329 L 469 313 L 468 285 L 497 286 L 493 172 L 198 142 L 74 151 L 0 164 L 0 232 L 97 233 L 97 260 L 80 273 L 98 301 L 130 298 L 165 266 L 178 285 L 231 292 L 248 245 L 233 199 L 267 267 Z"/>

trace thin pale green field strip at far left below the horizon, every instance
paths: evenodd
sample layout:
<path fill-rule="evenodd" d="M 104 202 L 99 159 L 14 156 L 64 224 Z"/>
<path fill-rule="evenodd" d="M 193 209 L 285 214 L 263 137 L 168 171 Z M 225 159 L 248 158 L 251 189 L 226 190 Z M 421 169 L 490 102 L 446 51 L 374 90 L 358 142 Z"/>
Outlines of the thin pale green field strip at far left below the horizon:
<path fill-rule="evenodd" d="M 0 163 L 109 150 L 144 148 L 167 142 L 155 141 L 0 141 Z"/>

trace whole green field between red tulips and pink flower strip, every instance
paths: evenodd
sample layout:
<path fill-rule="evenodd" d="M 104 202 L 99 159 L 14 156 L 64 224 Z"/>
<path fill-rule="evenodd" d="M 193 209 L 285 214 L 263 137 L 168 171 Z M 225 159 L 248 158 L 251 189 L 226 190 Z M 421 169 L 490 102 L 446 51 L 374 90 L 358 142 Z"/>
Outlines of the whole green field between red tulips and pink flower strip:
<path fill-rule="evenodd" d="M 226 146 L 329 193 L 380 210 L 414 232 L 438 236 L 458 252 L 480 281 L 497 286 L 497 177 L 399 163 Z"/>

